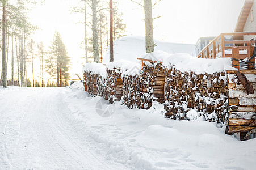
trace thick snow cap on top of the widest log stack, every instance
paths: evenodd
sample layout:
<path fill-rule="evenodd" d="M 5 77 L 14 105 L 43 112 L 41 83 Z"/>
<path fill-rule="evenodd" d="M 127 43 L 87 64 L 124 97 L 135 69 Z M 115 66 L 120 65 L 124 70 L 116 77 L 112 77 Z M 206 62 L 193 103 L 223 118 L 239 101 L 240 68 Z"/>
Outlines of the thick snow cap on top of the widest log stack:
<path fill-rule="evenodd" d="M 170 55 L 163 60 L 162 66 L 168 69 L 174 67 L 183 73 L 194 71 L 196 74 L 213 74 L 225 70 L 236 70 L 232 67 L 231 58 L 206 59 L 192 57 L 186 53 Z"/>

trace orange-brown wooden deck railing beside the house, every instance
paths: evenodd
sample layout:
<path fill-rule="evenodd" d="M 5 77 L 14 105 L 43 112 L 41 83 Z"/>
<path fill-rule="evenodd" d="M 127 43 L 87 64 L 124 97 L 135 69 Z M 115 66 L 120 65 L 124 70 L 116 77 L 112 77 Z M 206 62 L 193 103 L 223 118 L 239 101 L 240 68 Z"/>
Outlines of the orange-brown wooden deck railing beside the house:
<path fill-rule="evenodd" d="M 245 59 L 250 58 L 253 55 L 255 40 L 225 40 L 225 36 L 254 36 L 256 32 L 232 32 L 221 33 L 215 39 L 213 39 L 203 50 L 198 54 L 198 58 L 220 58 L 220 57 L 232 57 L 232 49 L 236 48 L 236 58 Z M 238 54 L 237 54 L 238 53 Z M 254 61 L 255 62 L 255 58 Z"/>

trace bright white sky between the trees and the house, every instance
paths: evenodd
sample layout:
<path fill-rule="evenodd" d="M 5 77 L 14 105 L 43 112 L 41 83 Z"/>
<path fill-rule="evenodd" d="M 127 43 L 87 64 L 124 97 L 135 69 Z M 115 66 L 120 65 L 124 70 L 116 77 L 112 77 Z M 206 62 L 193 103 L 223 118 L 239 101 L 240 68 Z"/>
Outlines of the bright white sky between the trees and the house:
<path fill-rule="evenodd" d="M 125 34 L 145 36 L 144 8 L 130 0 L 118 2 L 127 25 Z M 155 2 L 152 0 L 152 4 Z M 161 0 L 153 9 L 153 18 L 161 16 L 153 20 L 154 39 L 195 44 L 202 36 L 233 32 L 243 4 L 244 0 Z M 71 78 L 75 73 L 82 74 L 85 62 L 81 59 L 85 56 L 81 49 L 83 14 L 72 13 L 74 6 L 79 6 L 79 0 L 45 0 L 30 12 L 31 22 L 40 28 L 32 35 L 36 42 L 49 47 L 54 32 L 60 32 L 72 61 Z"/>

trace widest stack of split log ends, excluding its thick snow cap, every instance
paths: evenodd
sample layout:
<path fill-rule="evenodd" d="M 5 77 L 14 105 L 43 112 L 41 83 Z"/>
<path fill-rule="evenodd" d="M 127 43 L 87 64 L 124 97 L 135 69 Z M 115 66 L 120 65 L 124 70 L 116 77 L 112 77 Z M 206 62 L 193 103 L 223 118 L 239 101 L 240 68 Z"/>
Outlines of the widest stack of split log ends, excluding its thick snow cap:
<path fill-rule="evenodd" d="M 190 109 L 198 111 L 206 121 L 224 122 L 228 113 L 228 90 L 225 72 L 213 74 L 182 73 L 171 67 L 165 69 L 165 116 L 191 119 Z"/>

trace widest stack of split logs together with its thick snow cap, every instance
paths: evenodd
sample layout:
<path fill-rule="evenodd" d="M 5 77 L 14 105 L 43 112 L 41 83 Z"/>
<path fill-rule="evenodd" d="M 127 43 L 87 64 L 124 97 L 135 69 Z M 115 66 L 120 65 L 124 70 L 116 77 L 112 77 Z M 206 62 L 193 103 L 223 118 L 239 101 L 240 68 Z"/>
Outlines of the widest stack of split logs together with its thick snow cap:
<path fill-rule="evenodd" d="M 234 70 L 231 58 L 202 59 L 179 53 L 167 57 L 162 67 L 166 75 L 165 115 L 174 119 L 225 122 L 228 118 L 226 70 Z M 191 114 L 191 109 L 198 116 Z"/>

